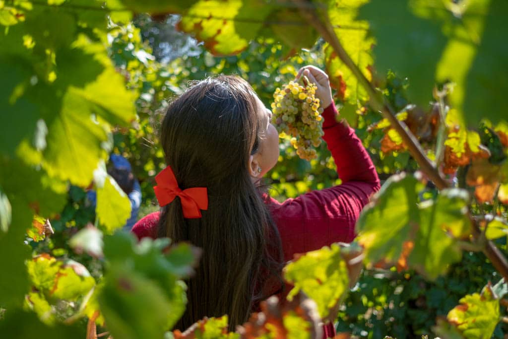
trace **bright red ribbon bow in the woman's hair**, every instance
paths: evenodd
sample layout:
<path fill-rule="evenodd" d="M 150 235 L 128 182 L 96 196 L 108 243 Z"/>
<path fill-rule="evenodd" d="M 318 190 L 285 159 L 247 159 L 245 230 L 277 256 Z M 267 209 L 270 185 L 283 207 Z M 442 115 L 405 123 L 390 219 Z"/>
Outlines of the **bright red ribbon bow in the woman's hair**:
<path fill-rule="evenodd" d="M 182 202 L 183 218 L 201 218 L 200 209 L 208 209 L 208 193 L 206 187 L 193 187 L 181 190 L 176 182 L 175 174 L 170 166 L 167 166 L 155 176 L 157 186 L 153 187 L 159 205 L 166 206 L 176 196 Z"/>

